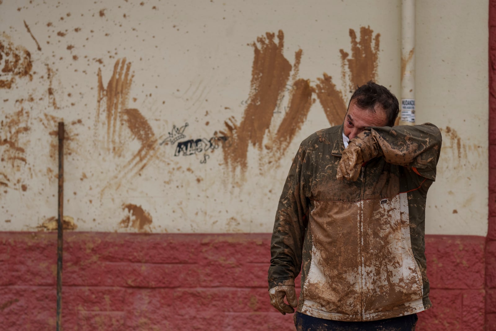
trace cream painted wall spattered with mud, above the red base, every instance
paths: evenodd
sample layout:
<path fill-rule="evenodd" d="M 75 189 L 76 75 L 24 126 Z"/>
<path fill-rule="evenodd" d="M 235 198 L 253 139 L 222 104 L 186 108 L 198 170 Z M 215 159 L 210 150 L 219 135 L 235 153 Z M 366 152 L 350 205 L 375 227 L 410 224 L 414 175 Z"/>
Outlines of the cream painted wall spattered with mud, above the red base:
<path fill-rule="evenodd" d="M 399 97 L 399 1 L 0 3 L 2 43 L 9 40 L 26 48 L 33 63 L 32 80 L 17 76 L 10 89 L 0 89 L 1 119 L 7 123 L 6 117 L 23 109 L 25 123 L 18 127 L 29 128 L 17 134 L 16 146 L 25 152 L 12 154 L 6 145 L 0 146 L 0 152 L 18 157 L 0 164 L 4 175 L 0 175 L 1 231 L 37 230 L 46 219 L 57 215 L 57 179 L 51 173 L 57 169 L 57 159 L 50 155 L 50 145 L 53 152 L 57 143 L 56 136 L 50 134 L 56 130 L 57 119 L 50 116 L 63 118 L 70 137 L 64 214 L 73 217 L 77 230 L 272 230 L 280 191 L 300 141 L 329 125 L 318 100 L 280 160 L 269 164 L 273 151 L 249 147 L 245 179 L 226 167 L 221 148 L 207 153 L 208 159 L 203 153 L 174 156 L 177 142 L 156 144 L 150 162 L 134 164 L 133 156 L 141 146 L 136 137 L 145 133 L 132 135 L 124 126 L 124 138 L 117 143 L 122 150 L 115 152 L 106 143 L 103 114 L 96 124 L 98 70 L 107 87 L 119 59 L 125 58 L 134 74 L 127 108 L 139 110 L 157 143 L 174 125 L 188 123 L 182 141 L 208 139 L 225 130 L 224 121 L 230 117 L 241 122 L 253 61 L 253 46 L 248 44 L 266 32 L 284 32 L 284 56 L 291 64 L 295 52 L 303 50 L 298 78 L 310 79 L 315 85 L 317 77 L 326 72 L 348 99 L 349 83 L 340 79 L 339 50 L 350 53 L 349 29 L 360 37 L 360 27 L 370 26 L 373 35 L 380 33 L 377 81 Z M 445 138 L 438 181 L 429 197 L 427 229 L 429 233 L 485 235 L 487 3 L 452 3 L 417 4 L 418 121 L 433 122 L 443 133 L 450 127 L 463 141 L 462 154 L 466 149 L 458 158 L 454 152 L 456 137 L 451 145 Z M 457 30 L 457 26 L 463 29 Z M 53 71 L 51 79 L 47 79 L 48 70 Z M 455 76 L 464 84 L 451 79 Z M 50 87 L 53 96 L 48 93 Z M 287 92 L 283 100 L 288 97 Z M 468 105 L 473 106 L 471 116 L 467 116 Z M 272 131 L 283 115 L 273 115 Z M 2 139 L 12 136 L 6 126 L 1 130 Z M 26 162 L 19 157 L 25 157 Z M 458 213 L 453 214 L 453 209 Z M 126 226 L 127 218 L 130 222 Z M 151 224 L 138 230 L 132 227 L 133 220 L 136 227 L 149 220 Z"/>

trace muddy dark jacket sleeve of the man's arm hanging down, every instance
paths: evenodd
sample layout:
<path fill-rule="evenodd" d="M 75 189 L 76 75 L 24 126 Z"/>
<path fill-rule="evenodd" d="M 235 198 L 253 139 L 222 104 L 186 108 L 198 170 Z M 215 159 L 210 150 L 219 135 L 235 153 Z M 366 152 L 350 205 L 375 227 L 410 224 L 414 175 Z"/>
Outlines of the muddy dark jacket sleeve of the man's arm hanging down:
<path fill-rule="evenodd" d="M 308 200 L 304 176 L 304 143 L 295 156 L 277 207 L 270 246 L 269 289 L 294 285 L 302 265 L 302 249 L 308 220 Z"/>

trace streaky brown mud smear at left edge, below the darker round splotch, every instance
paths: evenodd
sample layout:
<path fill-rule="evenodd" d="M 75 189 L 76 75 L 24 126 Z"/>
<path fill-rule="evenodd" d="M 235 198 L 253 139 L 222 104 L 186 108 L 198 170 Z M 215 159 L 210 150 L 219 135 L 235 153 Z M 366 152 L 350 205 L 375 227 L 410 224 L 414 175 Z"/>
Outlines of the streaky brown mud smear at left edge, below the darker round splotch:
<path fill-rule="evenodd" d="M 28 126 L 29 113 L 24 108 L 5 115 L 0 122 L 0 150 L 1 162 L 9 163 L 12 169 L 19 171 L 21 165 L 26 164 L 25 144 L 22 134 L 30 130 Z M 22 146 L 21 146 L 22 145 Z"/>

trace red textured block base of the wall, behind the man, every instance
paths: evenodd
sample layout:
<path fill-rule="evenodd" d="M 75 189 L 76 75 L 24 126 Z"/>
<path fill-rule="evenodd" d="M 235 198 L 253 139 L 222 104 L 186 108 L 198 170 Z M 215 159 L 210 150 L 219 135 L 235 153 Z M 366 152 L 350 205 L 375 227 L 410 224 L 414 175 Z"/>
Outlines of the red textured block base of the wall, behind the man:
<path fill-rule="evenodd" d="M 54 330 L 55 233 L 0 233 L 0 326 Z M 418 330 L 484 330 L 484 237 L 427 236 Z M 270 234 L 64 234 L 65 330 L 294 330 L 268 302 Z"/>

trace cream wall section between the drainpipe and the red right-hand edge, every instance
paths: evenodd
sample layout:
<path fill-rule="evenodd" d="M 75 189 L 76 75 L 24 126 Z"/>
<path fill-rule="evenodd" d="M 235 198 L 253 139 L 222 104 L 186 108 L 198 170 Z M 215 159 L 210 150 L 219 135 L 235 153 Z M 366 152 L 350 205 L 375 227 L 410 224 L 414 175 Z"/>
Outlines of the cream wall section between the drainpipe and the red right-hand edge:
<path fill-rule="evenodd" d="M 417 1 L 417 122 L 442 129 L 426 231 L 488 228 L 488 3 Z M 449 131 L 449 132 L 448 132 Z M 459 144 L 459 147 L 457 145 Z"/>

